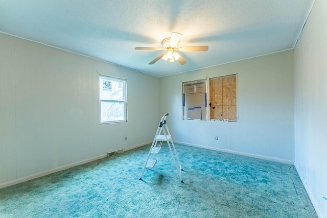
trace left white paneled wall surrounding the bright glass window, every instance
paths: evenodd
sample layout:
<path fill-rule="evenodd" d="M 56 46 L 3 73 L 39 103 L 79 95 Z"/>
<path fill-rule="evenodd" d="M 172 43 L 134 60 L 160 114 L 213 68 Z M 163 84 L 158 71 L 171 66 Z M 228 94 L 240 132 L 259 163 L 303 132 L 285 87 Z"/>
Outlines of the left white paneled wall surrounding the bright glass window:
<path fill-rule="evenodd" d="M 0 188 L 152 141 L 159 78 L 1 33 L 0 48 Z M 99 124 L 98 74 L 127 79 L 127 123 Z"/>

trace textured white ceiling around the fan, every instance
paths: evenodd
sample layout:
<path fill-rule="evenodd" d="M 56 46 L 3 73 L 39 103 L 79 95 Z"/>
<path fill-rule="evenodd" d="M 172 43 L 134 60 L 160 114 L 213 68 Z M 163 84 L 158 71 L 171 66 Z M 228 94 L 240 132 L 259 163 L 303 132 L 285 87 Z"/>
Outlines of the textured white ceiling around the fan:
<path fill-rule="evenodd" d="M 0 31 L 156 76 L 293 48 L 314 0 L 0 0 Z M 171 32 L 188 62 L 159 60 Z M 1 48 L 0 48 L 1 49 Z"/>

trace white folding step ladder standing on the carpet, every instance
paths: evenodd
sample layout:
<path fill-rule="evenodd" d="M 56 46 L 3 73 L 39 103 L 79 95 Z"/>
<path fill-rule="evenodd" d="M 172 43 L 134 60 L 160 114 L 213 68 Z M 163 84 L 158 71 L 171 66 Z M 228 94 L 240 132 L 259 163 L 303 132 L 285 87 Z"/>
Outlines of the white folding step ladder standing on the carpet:
<path fill-rule="evenodd" d="M 142 176 L 145 172 L 145 169 L 153 169 L 155 166 L 155 163 L 157 162 L 157 160 L 155 159 L 156 155 L 159 153 L 161 146 L 162 146 L 162 142 L 167 142 L 170 153 L 172 155 L 173 158 L 173 163 L 177 168 L 178 171 L 178 175 L 180 178 L 180 181 L 183 182 L 182 179 L 182 175 L 181 175 L 181 171 L 183 171 L 183 169 L 181 168 L 179 159 L 178 159 L 178 154 L 176 152 L 175 149 L 175 145 L 174 142 L 172 140 L 172 137 L 170 135 L 168 126 L 166 124 L 166 117 L 169 114 L 167 113 L 166 115 L 161 117 L 157 132 L 155 133 L 147 160 L 145 161 L 141 176 L 139 177 L 139 180 L 142 180 Z"/>

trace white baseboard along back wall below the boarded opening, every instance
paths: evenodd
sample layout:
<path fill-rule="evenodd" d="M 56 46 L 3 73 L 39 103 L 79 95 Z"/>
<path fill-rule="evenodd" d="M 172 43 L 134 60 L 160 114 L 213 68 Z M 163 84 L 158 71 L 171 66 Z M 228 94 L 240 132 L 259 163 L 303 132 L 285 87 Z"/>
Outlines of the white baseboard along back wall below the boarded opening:
<path fill-rule="evenodd" d="M 287 163 L 287 164 L 290 164 L 290 165 L 294 165 L 294 161 L 292 161 L 292 160 L 280 159 L 280 158 L 277 158 L 277 157 L 269 157 L 269 156 L 264 156 L 264 155 L 259 155 L 259 154 L 249 154 L 249 153 L 244 153 L 244 152 L 239 152 L 239 151 L 232 151 L 232 150 L 221 149 L 221 148 L 213 148 L 213 147 L 190 144 L 190 143 L 184 143 L 184 142 L 177 142 L 177 141 L 174 141 L 174 142 L 177 143 L 177 144 L 181 144 L 181 145 L 188 145 L 188 146 L 192 146 L 192 147 L 204 148 L 204 149 L 215 150 L 215 151 L 221 151 L 221 152 L 226 152 L 226 153 L 231 153 L 231 154 L 239 154 L 239 155 L 243 155 L 243 156 L 254 157 L 254 158 L 259 158 L 259 159 L 270 160 L 270 161 L 275 161 L 275 162 L 281 162 L 281 163 Z"/>

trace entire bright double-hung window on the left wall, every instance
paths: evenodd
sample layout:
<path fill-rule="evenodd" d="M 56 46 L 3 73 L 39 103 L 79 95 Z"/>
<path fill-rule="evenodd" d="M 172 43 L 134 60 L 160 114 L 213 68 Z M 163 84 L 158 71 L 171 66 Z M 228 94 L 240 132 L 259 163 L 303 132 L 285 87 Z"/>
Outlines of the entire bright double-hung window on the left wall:
<path fill-rule="evenodd" d="M 100 76 L 100 123 L 127 121 L 126 80 Z"/>

